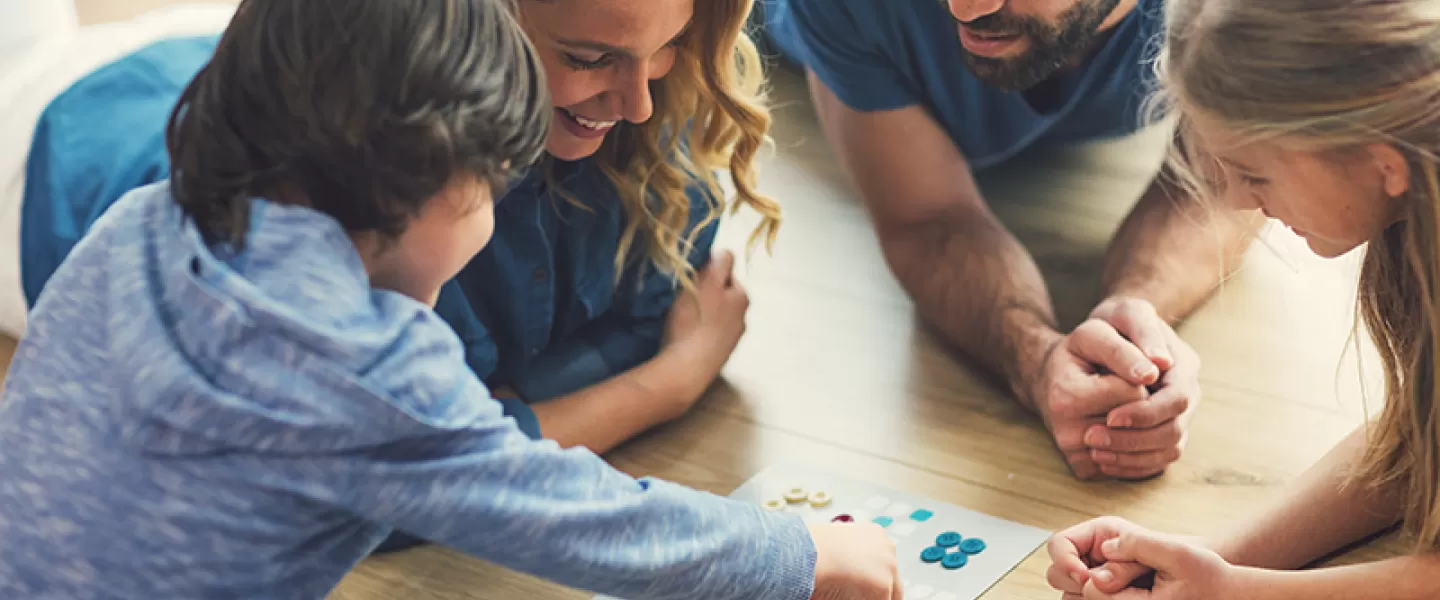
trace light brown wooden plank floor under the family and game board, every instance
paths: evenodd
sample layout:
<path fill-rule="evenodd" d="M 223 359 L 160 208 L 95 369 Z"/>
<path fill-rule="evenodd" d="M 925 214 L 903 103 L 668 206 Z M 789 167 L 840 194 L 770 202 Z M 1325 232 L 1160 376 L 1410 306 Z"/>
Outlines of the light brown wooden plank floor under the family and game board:
<path fill-rule="evenodd" d="M 164 0 L 81 0 L 85 22 Z M 1368 345 L 1348 348 L 1355 258 L 1322 262 L 1270 232 L 1243 272 L 1181 334 L 1205 361 L 1205 400 L 1189 450 L 1143 483 L 1071 479 L 1035 419 L 988 387 L 914 321 L 881 260 L 805 105 L 799 78 L 776 76 L 776 148 L 763 191 L 786 224 L 772 256 L 756 253 L 749 332 L 723 381 L 685 419 L 608 458 L 727 494 L 766 465 L 804 460 L 1045 529 L 1117 514 L 1175 532 L 1224 528 L 1315 462 L 1365 414 L 1359 364 L 1374 396 Z M 1040 258 L 1074 318 L 1094 301 L 1109 233 L 1159 160 L 1162 135 L 1037 153 L 984 178 L 1002 217 Z M 740 247 L 753 220 L 726 224 Z M 1356 361 L 1356 355 L 1362 361 Z M 1400 550 L 1368 544 L 1341 561 Z M 1032 555 L 986 599 L 1054 599 Z M 439 548 L 373 558 L 333 599 L 579 599 Z"/>

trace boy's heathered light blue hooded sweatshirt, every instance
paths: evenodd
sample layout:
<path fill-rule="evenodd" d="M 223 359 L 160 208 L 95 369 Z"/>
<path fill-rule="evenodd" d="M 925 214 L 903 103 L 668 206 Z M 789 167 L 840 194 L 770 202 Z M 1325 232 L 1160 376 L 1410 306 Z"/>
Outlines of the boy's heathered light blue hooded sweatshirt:
<path fill-rule="evenodd" d="M 0 399 L 0 597 L 320 599 L 395 529 L 629 599 L 805 600 L 795 515 L 530 440 L 334 219 L 168 183 L 55 272 Z"/>

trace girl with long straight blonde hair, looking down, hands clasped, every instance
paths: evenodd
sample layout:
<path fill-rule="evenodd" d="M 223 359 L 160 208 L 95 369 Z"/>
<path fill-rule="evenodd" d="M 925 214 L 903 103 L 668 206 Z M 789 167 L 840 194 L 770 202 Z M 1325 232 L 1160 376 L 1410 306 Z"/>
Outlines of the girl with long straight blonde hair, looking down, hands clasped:
<path fill-rule="evenodd" d="M 1359 246 L 1385 406 L 1280 502 L 1197 541 L 1116 518 L 1057 535 L 1067 599 L 1440 597 L 1440 3 L 1171 0 L 1162 106 L 1188 187 L 1320 256 Z M 1410 555 L 1290 571 L 1392 525 Z M 1133 586 L 1153 574 L 1153 583 Z"/>

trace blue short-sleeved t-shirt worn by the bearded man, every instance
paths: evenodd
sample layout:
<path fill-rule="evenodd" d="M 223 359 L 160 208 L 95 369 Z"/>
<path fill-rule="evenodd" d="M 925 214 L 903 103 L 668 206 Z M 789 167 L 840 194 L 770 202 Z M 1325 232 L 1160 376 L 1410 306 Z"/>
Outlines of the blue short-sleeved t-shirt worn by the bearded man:
<path fill-rule="evenodd" d="M 1050 111 L 971 73 L 943 1 L 766 0 L 765 20 L 775 45 L 841 102 L 861 112 L 924 106 L 979 170 L 1035 144 L 1142 127 L 1161 10 L 1161 0 L 1140 0 L 1090 60 L 1060 75 Z"/>

